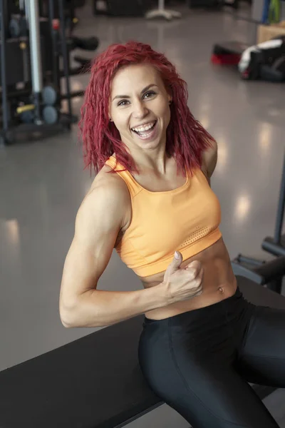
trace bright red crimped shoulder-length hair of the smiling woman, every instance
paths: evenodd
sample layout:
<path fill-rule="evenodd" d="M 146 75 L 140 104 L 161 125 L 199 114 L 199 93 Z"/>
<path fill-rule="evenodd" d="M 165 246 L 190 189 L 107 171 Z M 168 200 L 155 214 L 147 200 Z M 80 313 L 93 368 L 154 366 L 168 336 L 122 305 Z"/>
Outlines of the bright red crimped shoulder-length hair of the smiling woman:
<path fill-rule="evenodd" d="M 125 170 L 138 173 L 127 146 L 120 140 L 120 133 L 109 120 L 108 110 L 110 87 L 115 73 L 121 67 L 139 63 L 155 67 L 167 92 L 172 96 L 165 148 L 167 156 L 175 157 L 177 169 L 183 173 L 185 169 L 192 171 L 193 168 L 200 167 L 202 152 L 211 146 L 214 138 L 192 116 L 187 106 L 187 83 L 180 78 L 175 66 L 163 54 L 137 41 L 109 46 L 90 68 L 90 81 L 79 122 L 85 167 L 93 167 L 97 173 L 115 153 L 117 161 Z"/>

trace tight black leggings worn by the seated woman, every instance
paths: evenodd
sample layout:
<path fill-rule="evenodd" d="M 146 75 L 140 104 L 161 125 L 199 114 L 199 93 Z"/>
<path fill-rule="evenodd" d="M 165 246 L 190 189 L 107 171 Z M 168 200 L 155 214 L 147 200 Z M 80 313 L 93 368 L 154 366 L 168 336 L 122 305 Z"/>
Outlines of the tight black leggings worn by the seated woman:
<path fill-rule="evenodd" d="M 145 317 L 150 388 L 193 428 L 276 428 L 247 382 L 285 387 L 285 311 L 234 296 L 165 320 Z"/>

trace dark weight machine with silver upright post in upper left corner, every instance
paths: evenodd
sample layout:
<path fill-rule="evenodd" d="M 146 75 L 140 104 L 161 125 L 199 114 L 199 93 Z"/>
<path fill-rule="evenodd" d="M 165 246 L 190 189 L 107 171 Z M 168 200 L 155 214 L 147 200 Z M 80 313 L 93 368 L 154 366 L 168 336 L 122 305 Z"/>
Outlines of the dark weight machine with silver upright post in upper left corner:
<path fill-rule="evenodd" d="M 70 52 L 93 51 L 98 39 L 67 37 L 66 14 L 66 0 L 19 0 L 18 7 L 0 0 L 1 145 L 71 129 L 78 121 L 71 98 L 83 91 L 71 92 L 70 76 L 88 71 L 90 61 L 77 57 L 80 66 L 71 68 Z M 67 113 L 61 111 L 63 99 Z"/>

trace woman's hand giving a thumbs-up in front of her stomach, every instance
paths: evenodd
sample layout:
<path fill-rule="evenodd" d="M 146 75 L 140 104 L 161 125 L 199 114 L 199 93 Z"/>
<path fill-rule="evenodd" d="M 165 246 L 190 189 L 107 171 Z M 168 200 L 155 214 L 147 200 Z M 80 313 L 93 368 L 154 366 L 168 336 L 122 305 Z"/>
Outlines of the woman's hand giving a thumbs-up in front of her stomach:
<path fill-rule="evenodd" d="M 170 303 L 188 300 L 192 297 L 197 297 L 202 294 L 202 280 L 204 269 L 202 264 L 195 260 L 181 268 L 182 254 L 175 252 L 178 258 L 173 258 L 170 265 L 167 267 L 162 284 L 165 287 L 167 299 Z"/>

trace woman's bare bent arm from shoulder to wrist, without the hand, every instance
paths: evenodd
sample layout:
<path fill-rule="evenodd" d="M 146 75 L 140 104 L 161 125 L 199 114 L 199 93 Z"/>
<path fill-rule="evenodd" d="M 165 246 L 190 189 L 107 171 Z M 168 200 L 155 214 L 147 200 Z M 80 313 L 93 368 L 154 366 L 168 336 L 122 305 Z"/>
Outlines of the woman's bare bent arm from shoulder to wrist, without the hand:
<path fill-rule="evenodd" d="M 113 177 L 100 182 L 78 210 L 63 267 L 59 312 L 65 327 L 103 327 L 170 304 L 162 283 L 130 292 L 97 290 L 130 203 L 125 183 Z"/>

